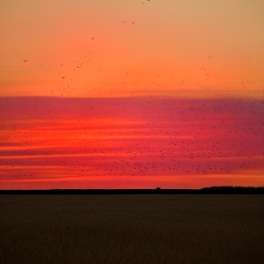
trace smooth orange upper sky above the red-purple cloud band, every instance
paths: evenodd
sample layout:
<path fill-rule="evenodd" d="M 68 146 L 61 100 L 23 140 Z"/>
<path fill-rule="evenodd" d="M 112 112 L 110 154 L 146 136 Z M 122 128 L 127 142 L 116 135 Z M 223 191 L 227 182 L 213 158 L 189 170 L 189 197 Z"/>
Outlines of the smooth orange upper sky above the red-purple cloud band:
<path fill-rule="evenodd" d="M 4 1 L 1 95 L 263 96 L 263 1 L 142 2 Z"/>

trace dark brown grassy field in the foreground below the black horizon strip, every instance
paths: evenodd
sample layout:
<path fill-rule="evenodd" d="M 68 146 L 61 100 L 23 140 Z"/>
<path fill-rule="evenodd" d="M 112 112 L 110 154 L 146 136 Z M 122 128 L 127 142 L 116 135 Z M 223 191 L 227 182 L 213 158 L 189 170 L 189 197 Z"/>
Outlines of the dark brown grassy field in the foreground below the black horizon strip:
<path fill-rule="evenodd" d="M 0 195 L 1 263 L 264 263 L 264 195 Z"/>

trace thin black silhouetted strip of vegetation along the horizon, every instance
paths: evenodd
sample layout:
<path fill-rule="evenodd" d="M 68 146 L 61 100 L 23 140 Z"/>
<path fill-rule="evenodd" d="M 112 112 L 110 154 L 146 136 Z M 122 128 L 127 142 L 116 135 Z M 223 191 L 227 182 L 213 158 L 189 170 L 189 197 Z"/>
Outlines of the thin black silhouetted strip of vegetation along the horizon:
<path fill-rule="evenodd" d="M 0 194 L 264 194 L 264 187 L 212 186 L 201 189 L 48 189 L 0 190 Z"/>

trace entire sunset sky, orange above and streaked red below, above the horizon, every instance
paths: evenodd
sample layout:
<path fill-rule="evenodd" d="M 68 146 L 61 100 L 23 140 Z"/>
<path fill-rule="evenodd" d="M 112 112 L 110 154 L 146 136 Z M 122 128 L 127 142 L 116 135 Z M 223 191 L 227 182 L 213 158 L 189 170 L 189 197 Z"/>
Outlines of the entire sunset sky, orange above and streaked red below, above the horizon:
<path fill-rule="evenodd" d="M 0 188 L 263 185 L 263 10 L 3 1 Z"/>

